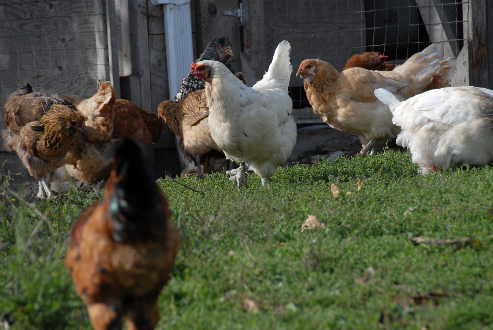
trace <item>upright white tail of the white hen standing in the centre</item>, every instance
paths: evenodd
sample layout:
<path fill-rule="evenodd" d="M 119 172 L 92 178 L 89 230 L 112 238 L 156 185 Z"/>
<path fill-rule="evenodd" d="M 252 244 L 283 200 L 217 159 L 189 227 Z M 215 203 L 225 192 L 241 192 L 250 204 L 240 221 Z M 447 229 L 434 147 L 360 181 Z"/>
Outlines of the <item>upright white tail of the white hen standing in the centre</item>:
<path fill-rule="evenodd" d="M 269 70 L 265 72 L 262 80 L 253 85 L 253 89 L 280 88 L 287 92 L 289 78 L 293 71 L 293 66 L 289 63 L 290 50 L 291 45 L 286 40 L 279 43 L 274 52 Z"/>

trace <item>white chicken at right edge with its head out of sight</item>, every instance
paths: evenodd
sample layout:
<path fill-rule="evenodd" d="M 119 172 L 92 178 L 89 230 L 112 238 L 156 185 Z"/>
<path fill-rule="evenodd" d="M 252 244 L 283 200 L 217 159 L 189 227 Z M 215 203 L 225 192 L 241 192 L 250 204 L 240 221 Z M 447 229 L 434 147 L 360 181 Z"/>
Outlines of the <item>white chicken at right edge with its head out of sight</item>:
<path fill-rule="evenodd" d="M 469 163 L 493 162 L 493 91 L 473 86 L 447 87 L 400 102 L 385 89 L 375 96 L 388 104 L 401 127 L 397 144 L 407 147 L 423 175 Z"/>

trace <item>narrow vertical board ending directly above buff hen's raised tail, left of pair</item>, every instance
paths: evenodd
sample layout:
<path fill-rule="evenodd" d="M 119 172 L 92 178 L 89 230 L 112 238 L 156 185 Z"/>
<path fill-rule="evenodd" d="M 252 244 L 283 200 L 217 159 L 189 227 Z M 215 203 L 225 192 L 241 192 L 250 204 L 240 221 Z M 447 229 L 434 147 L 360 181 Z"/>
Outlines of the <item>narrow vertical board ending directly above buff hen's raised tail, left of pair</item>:
<path fill-rule="evenodd" d="M 94 0 L 94 26 L 96 33 L 96 67 L 98 79 L 108 80 L 108 43 L 106 35 L 106 6 L 105 0 Z"/>

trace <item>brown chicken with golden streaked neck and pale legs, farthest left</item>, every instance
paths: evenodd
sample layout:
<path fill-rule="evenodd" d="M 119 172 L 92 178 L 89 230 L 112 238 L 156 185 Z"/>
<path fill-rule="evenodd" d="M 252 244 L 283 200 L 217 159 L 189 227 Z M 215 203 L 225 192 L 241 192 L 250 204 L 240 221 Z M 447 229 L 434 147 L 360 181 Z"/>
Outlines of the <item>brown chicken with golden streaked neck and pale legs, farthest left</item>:
<path fill-rule="evenodd" d="M 29 174 L 39 180 L 37 197 L 44 197 L 44 189 L 51 198 L 49 174 L 66 163 L 66 154 L 84 137 L 83 116 L 64 99 L 33 92 L 30 84 L 12 93 L 3 111 L 7 150 L 15 151 Z"/>

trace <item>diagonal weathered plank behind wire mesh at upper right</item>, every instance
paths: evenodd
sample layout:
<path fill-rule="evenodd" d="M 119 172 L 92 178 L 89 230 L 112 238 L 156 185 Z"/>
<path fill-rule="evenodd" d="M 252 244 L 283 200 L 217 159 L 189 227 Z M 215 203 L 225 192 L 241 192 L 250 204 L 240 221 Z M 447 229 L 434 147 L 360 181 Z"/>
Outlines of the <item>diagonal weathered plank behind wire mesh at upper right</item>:
<path fill-rule="evenodd" d="M 456 36 L 450 26 L 450 21 L 443 8 L 441 0 L 416 0 L 431 42 L 440 43 L 443 56 L 456 57 L 459 49 Z"/>

